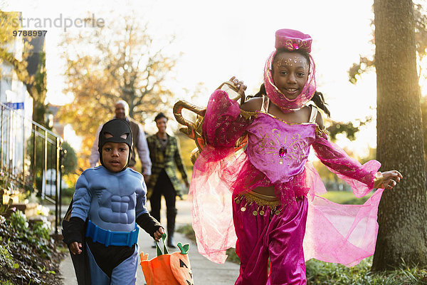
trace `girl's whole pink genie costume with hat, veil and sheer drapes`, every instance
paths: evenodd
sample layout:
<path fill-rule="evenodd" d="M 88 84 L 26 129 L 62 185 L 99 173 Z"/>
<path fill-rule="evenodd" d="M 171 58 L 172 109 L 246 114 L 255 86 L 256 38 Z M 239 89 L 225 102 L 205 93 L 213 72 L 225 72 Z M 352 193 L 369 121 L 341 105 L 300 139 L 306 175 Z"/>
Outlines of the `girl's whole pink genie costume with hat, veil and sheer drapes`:
<path fill-rule="evenodd" d="M 310 36 L 299 31 L 276 32 L 275 48 L 310 52 L 311 43 Z M 270 100 L 283 112 L 298 110 L 316 88 L 310 57 L 310 75 L 302 92 L 294 100 L 285 98 L 270 72 L 275 52 L 265 63 L 268 97 L 259 112 L 241 110 L 222 90 L 211 95 L 203 125 L 207 145 L 191 179 L 199 252 L 221 263 L 226 249 L 236 246 L 241 257 L 236 284 L 306 284 L 305 260 L 354 266 L 374 253 L 378 232 L 376 214 L 383 190 L 362 205 L 330 202 L 319 196 L 325 186 L 307 157 L 312 147 L 322 163 L 352 186 L 356 197 L 374 188 L 380 163 L 361 165 L 330 142 L 315 123 L 314 106 L 307 123 L 290 124 L 268 114 Z M 235 152 L 236 141 L 245 134 L 246 150 Z M 277 197 L 251 191 L 269 186 Z"/>

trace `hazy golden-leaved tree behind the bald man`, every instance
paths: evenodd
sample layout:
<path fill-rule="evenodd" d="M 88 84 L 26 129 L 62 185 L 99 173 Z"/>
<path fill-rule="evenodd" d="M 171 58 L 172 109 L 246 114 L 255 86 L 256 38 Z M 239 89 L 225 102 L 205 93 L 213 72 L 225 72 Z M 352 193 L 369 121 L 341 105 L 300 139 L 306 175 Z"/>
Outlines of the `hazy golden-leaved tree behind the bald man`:
<path fill-rule="evenodd" d="M 136 16 L 65 34 L 65 92 L 74 100 L 61 108 L 60 116 L 83 138 L 86 157 L 98 126 L 114 115 L 115 101 L 125 100 L 139 122 L 172 107 L 172 91 L 164 83 L 179 56 L 167 52 L 172 41 L 173 36 L 155 41 Z"/>

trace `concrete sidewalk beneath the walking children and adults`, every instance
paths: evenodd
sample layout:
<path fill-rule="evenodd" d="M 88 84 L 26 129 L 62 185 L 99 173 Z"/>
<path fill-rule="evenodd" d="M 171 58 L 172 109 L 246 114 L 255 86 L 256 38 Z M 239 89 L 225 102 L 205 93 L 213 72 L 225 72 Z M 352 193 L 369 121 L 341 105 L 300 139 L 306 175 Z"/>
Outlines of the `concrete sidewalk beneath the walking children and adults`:
<path fill-rule="evenodd" d="M 149 204 L 149 203 L 148 203 Z M 176 200 L 176 208 L 178 214 L 176 216 L 176 228 L 191 224 L 191 204 L 186 200 Z M 162 224 L 166 227 L 166 204 L 162 199 Z M 174 242 L 181 244 L 190 244 L 189 259 L 191 262 L 191 270 L 193 271 L 194 284 L 199 285 L 226 285 L 234 284 L 238 276 L 238 264 L 226 261 L 225 264 L 216 264 L 201 256 L 197 251 L 196 244 L 184 235 L 175 233 Z M 156 257 L 156 249 L 152 248 L 153 239 L 144 230 L 139 231 L 138 245 L 139 253 L 144 252 L 149 254 L 149 259 Z M 174 251 L 179 251 L 176 249 Z M 174 252 L 170 250 L 170 252 Z M 60 274 L 63 276 L 64 285 L 77 285 L 75 279 L 73 263 L 70 255 L 67 254 L 65 259 L 60 264 Z M 144 285 L 145 279 L 142 273 L 141 266 L 137 269 L 137 285 Z"/>

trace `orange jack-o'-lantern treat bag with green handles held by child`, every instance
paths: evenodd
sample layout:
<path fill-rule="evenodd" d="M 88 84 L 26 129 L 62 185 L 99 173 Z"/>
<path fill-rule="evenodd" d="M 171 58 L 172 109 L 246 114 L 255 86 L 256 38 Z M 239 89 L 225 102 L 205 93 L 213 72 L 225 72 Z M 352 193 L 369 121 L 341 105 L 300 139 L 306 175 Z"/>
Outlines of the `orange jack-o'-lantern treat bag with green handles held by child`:
<path fill-rule="evenodd" d="M 181 252 L 169 254 L 164 244 L 166 234 L 162 234 L 163 252 L 156 242 L 157 257 L 148 260 L 148 254 L 141 252 L 141 267 L 147 285 L 194 285 L 188 255 L 189 244 L 177 244 Z"/>

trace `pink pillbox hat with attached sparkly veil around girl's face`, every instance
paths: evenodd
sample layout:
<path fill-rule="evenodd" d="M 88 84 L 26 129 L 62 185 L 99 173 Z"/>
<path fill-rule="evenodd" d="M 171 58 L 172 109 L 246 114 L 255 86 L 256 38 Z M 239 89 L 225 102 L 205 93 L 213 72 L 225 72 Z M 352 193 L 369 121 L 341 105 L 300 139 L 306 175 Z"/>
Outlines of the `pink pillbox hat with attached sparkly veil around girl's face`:
<path fill-rule="evenodd" d="M 271 102 L 277 105 L 280 110 L 284 113 L 290 113 L 295 110 L 300 110 L 308 103 L 315 95 L 316 91 L 316 80 L 315 80 L 315 61 L 310 55 L 312 38 L 305 33 L 300 31 L 291 30 L 289 28 L 283 28 L 275 33 L 275 48 L 276 50 L 268 56 L 264 67 L 264 86 L 265 93 Z M 278 49 L 286 48 L 288 51 L 306 51 L 308 58 L 310 58 L 310 69 L 308 73 L 307 82 L 301 93 L 297 95 L 295 99 L 288 99 L 279 88 L 277 88 L 273 82 L 273 74 L 271 73 L 273 68 L 273 59 Z"/>

